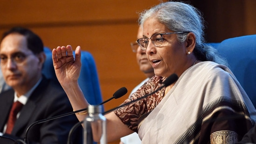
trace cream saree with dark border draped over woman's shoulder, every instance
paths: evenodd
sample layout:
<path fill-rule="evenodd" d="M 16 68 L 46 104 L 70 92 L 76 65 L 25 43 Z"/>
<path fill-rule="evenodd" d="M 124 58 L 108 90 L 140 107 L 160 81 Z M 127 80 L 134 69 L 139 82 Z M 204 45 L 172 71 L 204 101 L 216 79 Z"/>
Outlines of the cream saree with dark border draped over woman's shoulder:
<path fill-rule="evenodd" d="M 250 116 L 256 110 L 235 76 L 214 62 L 187 69 L 140 123 L 126 123 L 129 118 L 120 116 L 129 114 L 131 108 L 121 109 L 122 114 L 117 110 L 116 115 L 131 129 L 139 125 L 143 144 L 234 144 L 256 120 L 255 115 Z"/>

